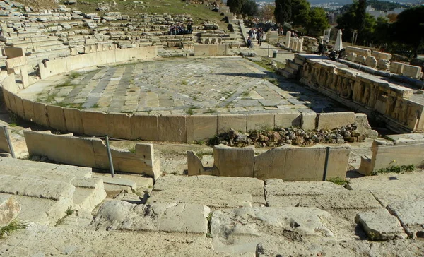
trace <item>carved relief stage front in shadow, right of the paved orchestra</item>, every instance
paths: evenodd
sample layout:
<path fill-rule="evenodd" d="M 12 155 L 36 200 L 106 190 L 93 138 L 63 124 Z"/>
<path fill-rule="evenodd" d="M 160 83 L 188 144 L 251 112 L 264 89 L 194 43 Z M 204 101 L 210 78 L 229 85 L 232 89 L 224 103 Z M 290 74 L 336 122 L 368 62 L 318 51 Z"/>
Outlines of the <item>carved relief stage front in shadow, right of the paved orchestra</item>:
<path fill-rule="evenodd" d="M 321 56 L 315 59 L 314 55 L 296 55 L 295 63 L 301 61 L 304 64 L 299 76 L 305 85 L 360 112 L 382 114 L 395 131 L 424 130 L 424 105 L 410 100 L 414 92 L 411 88 L 388 83 Z"/>

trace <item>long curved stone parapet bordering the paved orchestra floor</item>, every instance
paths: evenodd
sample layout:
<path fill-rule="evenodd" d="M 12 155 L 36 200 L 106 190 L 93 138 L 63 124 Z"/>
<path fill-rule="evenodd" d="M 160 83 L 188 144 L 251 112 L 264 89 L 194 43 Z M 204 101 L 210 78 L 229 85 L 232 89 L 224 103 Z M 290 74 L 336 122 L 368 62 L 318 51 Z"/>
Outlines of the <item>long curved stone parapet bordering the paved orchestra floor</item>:
<path fill-rule="evenodd" d="M 40 64 L 40 73 L 42 78 L 47 78 L 78 68 L 153 58 L 156 54 L 156 47 L 143 47 L 68 56 Z M 13 74 L 4 80 L 2 85 L 6 106 L 23 119 L 33 121 L 46 128 L 90 136 L 107 134 L 112 138 L 192 143 L 212 138 L 230 128 L 242 132 L 276 126 L 298 126 L 305 130 L 311 130 L 314 128 L 331 129 L 355 122 L 353 112 L 318 115 L 315 113 L 269 113 L 193 116 L 90 112 L 23 99 L 16 95 L 21 88 L 19 88 L 20 84 L 16 83 Z"/>

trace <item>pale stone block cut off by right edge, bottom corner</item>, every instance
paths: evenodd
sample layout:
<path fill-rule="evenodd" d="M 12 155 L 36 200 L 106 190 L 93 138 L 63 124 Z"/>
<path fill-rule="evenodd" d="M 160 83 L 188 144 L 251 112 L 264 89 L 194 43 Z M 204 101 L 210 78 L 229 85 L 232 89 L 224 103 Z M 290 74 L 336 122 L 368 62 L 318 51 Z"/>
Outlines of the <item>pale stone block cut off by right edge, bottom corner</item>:
<path fill-rule="evenodd" d="M 424 237 L 424 201 L 392 203 L 387 210 L 401 221 L 408 237 Z"/>

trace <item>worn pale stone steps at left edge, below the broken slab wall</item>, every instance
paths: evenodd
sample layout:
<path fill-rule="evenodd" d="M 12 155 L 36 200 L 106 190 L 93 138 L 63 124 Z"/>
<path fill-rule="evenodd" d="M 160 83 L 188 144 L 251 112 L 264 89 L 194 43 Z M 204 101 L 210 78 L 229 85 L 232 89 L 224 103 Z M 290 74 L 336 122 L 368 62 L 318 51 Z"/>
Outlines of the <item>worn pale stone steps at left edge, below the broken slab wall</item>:
<path fill-rule="evenodd" d="M 14 198 L 18 219 L 40 225 L 54 225 L 72 210 L 91 212 L 106 197 L 102 179 L 86 167 L 6 157 L 0 178 L 0 198 Z"/>

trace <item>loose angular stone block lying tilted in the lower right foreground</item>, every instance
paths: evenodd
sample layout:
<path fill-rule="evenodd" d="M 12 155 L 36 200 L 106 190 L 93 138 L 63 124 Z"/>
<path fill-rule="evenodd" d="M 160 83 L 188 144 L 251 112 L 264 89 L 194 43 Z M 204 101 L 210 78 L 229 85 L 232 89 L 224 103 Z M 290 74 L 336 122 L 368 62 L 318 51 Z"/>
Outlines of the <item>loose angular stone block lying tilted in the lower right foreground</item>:
<path fill-rule="evenodd" d="M 371 240 L 406 239 L 406 234 L 399 220 L 390 215 L 386 209 L 375 209 L 358 213 L 355 222 L 362 225 Z"/>

